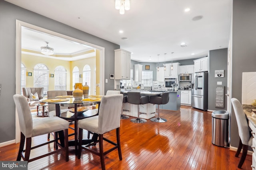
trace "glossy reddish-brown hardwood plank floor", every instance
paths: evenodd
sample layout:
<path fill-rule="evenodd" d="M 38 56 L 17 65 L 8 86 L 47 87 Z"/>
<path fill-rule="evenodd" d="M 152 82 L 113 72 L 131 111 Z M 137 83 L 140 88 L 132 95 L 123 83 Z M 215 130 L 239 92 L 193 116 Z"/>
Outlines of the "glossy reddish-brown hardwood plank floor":
<path fill-rule="evenodd" d="M 211 112 L 182 106 L 180 111 L 160 110 L 160 117 L 166 118 L 166 123 L 137 124 L 130 119 L 121 120 L 120 138 L 122 157 L 118 151 L 112 151 L 105 156 L 106 169 L 110 170 L 235 170 L 240 158 L 229 148 L 212 145 Z M 46 118 L 47 119 L 47 118 Z M 71 131 L 70 131 L 71 133 Z M 84 138 L 87 132 L 84 131 Z M 115 131 L 104 137 L 115 139 Z M 35 137 L 33 143 L 42 143 L 47 135 Z M 19 144 L 0 148 L 0 160 L 16 160 Z M 108 144 L 104 147 L 109 147 Z M 96 145 L 98 148 L 98 145 Z M 31 152 L 31 156 L 53 149 L 53 145 Z M 65 162 L 64 153 L 54 154 L 28 164 L 30 170 L 83 169 L 100 170 L 100 157 L 85 150 L 79 160 L 70 147 L 69 161 Z M 241 155 L 241 154 L 240 154 Z M 242 169 L 252 169 L 252 156 L 247 155 Z"/>

